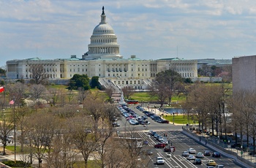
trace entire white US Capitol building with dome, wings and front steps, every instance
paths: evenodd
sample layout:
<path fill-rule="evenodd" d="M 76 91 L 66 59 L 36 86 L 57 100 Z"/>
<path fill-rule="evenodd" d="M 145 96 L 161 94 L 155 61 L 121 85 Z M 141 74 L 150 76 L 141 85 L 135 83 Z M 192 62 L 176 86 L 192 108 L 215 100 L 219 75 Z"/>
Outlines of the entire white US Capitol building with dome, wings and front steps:
<path fill-rule="evenodd" d="M 8 79 L 31 79 L 31 65 L 42 64 L 49 80 L 68 80 L 75 74 L 98 76 L 105 87 L 146 89 L 157 73 L 174 69 L 182 77 L 197 80 L 197 61 L 180 58 L 141 60 L 136 56 L 123 58 L 113 28 L 107 23 L 104 7 L 100 23 L 94 28 L 88 52 L 82 58 L 58 58 L 44 60 L 27 58 L 7 61 Z"/>

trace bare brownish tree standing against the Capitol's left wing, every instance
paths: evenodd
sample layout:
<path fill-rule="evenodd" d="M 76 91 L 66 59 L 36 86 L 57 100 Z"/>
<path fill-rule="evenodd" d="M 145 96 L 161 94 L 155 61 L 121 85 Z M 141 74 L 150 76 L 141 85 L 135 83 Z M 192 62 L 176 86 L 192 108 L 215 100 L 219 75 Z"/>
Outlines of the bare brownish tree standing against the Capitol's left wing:
<path fill-rule="evenodd" d="M 45 84 L 48 80 L 48 73 L 45 71 L 43 64 L 30 64 L 29 72 L 35 84 Z"/>

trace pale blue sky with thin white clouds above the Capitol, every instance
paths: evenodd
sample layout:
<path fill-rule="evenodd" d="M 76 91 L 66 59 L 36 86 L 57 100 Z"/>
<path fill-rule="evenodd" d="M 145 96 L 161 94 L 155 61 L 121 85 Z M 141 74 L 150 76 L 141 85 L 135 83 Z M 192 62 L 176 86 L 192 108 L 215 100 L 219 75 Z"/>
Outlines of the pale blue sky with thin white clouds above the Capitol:
<path fill-rule="evenodd" d="M 0 0 L 0 66 L 82 58 L 102 6 L 124 58 L 255 55 L 255 0 Z"/>

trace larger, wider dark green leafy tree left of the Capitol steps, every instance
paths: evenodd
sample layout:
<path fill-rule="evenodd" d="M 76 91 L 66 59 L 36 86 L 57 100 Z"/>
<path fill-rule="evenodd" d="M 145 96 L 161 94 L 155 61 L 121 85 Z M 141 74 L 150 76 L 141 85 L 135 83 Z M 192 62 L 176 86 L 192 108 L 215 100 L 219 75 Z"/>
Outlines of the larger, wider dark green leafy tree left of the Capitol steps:
<path fill-rule="evenodd" d="M 68 84 L 69 90 L 78 90 L 78 88 L 83 88 L 85 91 L 89 90 L 89 77 L 87 75 L 75 74 Z"/>

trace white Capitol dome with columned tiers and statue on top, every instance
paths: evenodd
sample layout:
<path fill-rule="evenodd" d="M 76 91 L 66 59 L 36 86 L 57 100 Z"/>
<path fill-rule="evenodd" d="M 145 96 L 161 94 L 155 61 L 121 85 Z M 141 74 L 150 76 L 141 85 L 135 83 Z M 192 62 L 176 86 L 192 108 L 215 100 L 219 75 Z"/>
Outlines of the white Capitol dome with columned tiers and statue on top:
<path fill-rule="evenodd" d="M 94 28 L 91 35 L 91 43 L 88 45 L 88 52 L 83 59 L 116 59 L 122 58 L 119 55 L 119 45 L 113 28 L 106 22 L 104 7 L 102 7 L 101 21 Z"/>

